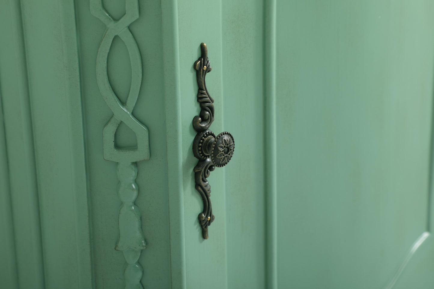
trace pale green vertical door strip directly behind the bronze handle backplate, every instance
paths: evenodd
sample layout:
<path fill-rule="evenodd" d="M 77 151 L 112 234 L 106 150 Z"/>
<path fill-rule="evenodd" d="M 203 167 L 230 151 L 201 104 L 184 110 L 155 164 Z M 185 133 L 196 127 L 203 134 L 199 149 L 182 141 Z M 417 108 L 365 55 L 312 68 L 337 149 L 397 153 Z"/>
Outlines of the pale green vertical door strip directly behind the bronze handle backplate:
<path fill-rule="evenodd" d="M 196 132 L 192 119 L 200 112 L 197 105 L 197 80 L 194 61 L 201 56 L 200 44 L 207 44 L 212 71 L 207 74 L 207 89 L 214 98 L 215 120 L 211 129 L 224 131 L 222 87 L 221 1 L 178 1 L 179 67 L 181 83 L 182 169 L 184 186 L 185 272 L 187 288 L 227 288 L 226 207 L 224 170 L 217 168 L 208 179 L 215 220 L 208 228 L 209 239 L 202 238 L 197 215 L 203 209 L 194 188 L 192 152 Z M 203 18 L 202 18 L 203 17 Z M 202 25 L 205 21 L 206 25 Z M 235 140 L 236 141 L 236 140 Z M 233 161 L 231 160 L 231 164 Z M 206 277 L 205 277 L 206 276 Z"/>

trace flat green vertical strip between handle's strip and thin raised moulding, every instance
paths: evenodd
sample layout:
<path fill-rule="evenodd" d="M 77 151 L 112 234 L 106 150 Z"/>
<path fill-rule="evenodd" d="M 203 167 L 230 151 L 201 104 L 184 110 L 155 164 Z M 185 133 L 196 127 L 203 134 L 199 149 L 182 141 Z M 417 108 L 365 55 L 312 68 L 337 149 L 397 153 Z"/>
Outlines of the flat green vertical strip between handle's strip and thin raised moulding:
<path fill-rule="evenodd" d="M 233 289 L 271 288 L 266 286 L 264 5 L 263 0 L 222 1 L 223 125 L 237 147 L 224 167 L 227 276 Z M 212 73 L 208 77 L 210 82 Z"/>

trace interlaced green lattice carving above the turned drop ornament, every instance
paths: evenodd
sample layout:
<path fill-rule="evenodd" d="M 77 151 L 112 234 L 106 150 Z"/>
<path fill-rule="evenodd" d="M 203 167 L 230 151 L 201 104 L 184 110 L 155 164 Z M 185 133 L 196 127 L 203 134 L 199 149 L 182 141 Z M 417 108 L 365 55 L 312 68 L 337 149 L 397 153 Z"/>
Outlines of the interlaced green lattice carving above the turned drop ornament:
<path fill-rule="evenodd" d="M 99 90 L 113 112 L 112 118 L 103 130 L 104 158 L 117 162 L 133 162 L 149 159 L 148 129 L 132 115 L 132 110 L 140 90 L 142 71 L 140 51 L 128 26 L 138 18 L 138 1 L 126 0 L 125 8 L 125 15 L 120 20 L 115 21 L 102 7 L 101 0 L 91 0 L 90 2 L 92 14 L 107 26 L 104 37 L 99 45 L 95 69 Z M 125 43 L 125 46 L 127 46 L 131 60 L 131 88 L 125 104 L 113 92 L 109 76 L 107 75 L 107 57 L 109 56 L 110 47 L 115 36 L 119 36 Z M 124 122 L 128 128 L 134 131 L 137 137 L 137 148 L 121 149 L 115 147 L 115 132 L 121 122 Z"/>

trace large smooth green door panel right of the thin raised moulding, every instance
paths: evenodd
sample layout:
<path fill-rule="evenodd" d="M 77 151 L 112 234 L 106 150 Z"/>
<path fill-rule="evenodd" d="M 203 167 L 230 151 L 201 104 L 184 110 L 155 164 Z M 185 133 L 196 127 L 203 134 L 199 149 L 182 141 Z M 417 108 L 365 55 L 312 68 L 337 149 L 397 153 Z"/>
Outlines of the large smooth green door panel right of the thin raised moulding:
<path fill-rule="evenodd" d="M 278 1 L 279 287 L 385 288 L 427 230 L 433 9 Z"/>

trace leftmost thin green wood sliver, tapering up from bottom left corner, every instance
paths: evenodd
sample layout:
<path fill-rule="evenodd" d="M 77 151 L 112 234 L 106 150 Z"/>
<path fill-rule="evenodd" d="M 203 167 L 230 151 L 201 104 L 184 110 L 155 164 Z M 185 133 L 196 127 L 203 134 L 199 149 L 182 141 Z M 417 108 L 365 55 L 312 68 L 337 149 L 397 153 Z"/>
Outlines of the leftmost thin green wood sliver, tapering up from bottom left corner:
<path fill-rule="evenodd" d="M 10 200 L 9 166 L 4 131 L 3 106 L 0 83 L 0 272 L 4 274 L 2 286 L 18 289 L 18 274 L 16 268 L 16 249 L 12 219 L 12 204 Z"/>

